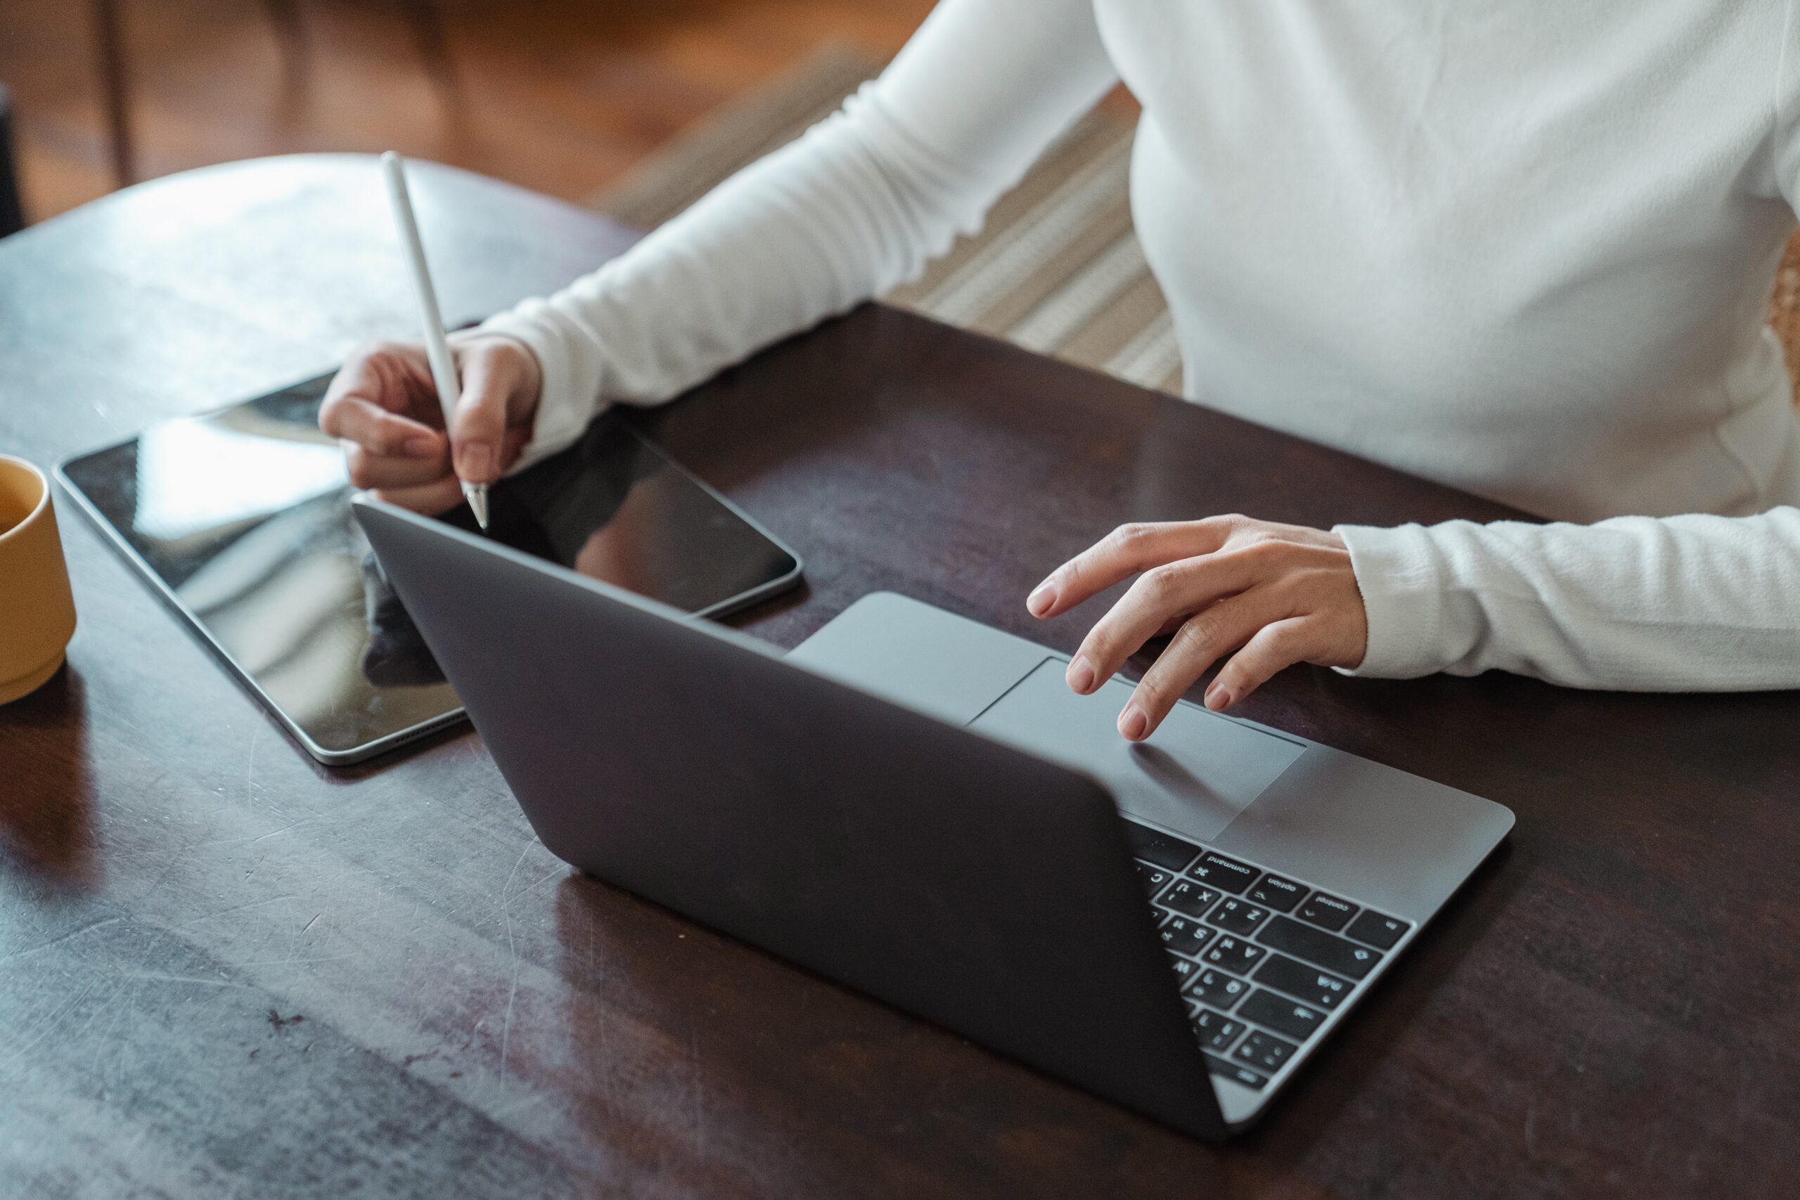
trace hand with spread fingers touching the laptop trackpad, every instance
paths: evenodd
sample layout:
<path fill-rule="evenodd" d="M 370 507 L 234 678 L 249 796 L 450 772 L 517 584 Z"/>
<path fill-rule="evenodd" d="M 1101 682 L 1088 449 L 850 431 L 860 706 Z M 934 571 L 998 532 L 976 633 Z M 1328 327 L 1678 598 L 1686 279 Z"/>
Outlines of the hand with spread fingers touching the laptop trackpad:
<path fill-rule="evenodd" d="M 1247 516 L 1120 525 L 1058 567 L 1026 599 L 1055 617 L 1138 576 L 1069 660 L 1069 687 L 1096 691 L 1157 635 L 1174 635 L 1120 712 L 1120 732 L 1148 738 L 1220 657 L 1206 707 L 1229 709 L 1294 662 L 1355 667 L 1368 615 L 1343 538 Z"/>

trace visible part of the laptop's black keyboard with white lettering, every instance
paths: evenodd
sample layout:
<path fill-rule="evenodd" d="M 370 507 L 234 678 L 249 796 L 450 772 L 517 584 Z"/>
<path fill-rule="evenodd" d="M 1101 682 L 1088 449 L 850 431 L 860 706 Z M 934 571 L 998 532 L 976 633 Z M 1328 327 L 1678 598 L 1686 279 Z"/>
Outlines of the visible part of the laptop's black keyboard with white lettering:
<path fill-rule="evenodd" d="M 1125 840 L 1206 1065 L 1249 1088 L 1298 1058 L 1413 928 L 1136 820 Z"/>

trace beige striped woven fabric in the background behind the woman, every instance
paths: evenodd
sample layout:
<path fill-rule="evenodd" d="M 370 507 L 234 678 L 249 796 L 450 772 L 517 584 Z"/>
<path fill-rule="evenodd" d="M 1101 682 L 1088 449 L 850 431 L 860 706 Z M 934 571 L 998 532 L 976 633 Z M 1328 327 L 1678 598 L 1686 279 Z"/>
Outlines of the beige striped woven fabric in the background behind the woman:
<path fill-rule="evenodd" d="M 653 228 L 738 167 L 830 115 L 880 63 L 826 47 L 724 106 L 590 200 L 626 225 Z M 923 279 L 886 299 L 1028 349 L 1168 392 L 1181 349 L 1163 291 L 1130 225 L 1132 122 L 1096 112 L 1078 122 Z M 1800 365 L 1800 237 L 1787 248 L 1769 322 Z M 1800 383 L 1796 383 L 1800 401 Z"/>

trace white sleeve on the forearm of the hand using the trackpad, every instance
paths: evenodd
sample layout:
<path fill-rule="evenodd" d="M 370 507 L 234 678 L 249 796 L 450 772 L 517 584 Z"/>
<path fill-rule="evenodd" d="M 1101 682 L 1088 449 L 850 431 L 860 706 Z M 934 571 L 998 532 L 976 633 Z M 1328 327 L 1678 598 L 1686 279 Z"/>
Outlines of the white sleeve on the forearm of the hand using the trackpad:
<path fill-rule="evenodd" d="M 1336 533 L 1368 610 L 1368 653 L 1352 675 L 1800 685 L 1800 509 Z"/>

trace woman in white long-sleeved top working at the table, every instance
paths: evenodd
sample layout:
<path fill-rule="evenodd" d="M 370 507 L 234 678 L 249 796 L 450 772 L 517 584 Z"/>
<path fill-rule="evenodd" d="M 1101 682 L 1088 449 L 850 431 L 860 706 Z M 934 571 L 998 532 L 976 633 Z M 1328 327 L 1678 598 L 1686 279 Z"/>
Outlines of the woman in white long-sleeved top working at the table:
<path fill-rule="evenodd" d="M 455 502 L 914 277 L 1114 83 L 1186 394 L 1555 524 L 1127 527 L 1031 592 L 1129 576 L 1069 685 L 1174 633 L 1120 714 L 1208 667 L 1501 667 L 1800 685 L 1800 421 L 1762 322 L 1800 203 L 1800 0 L 943 0 L 844 112 L 562 293 L 322 410 L 358 486 Z"/>

